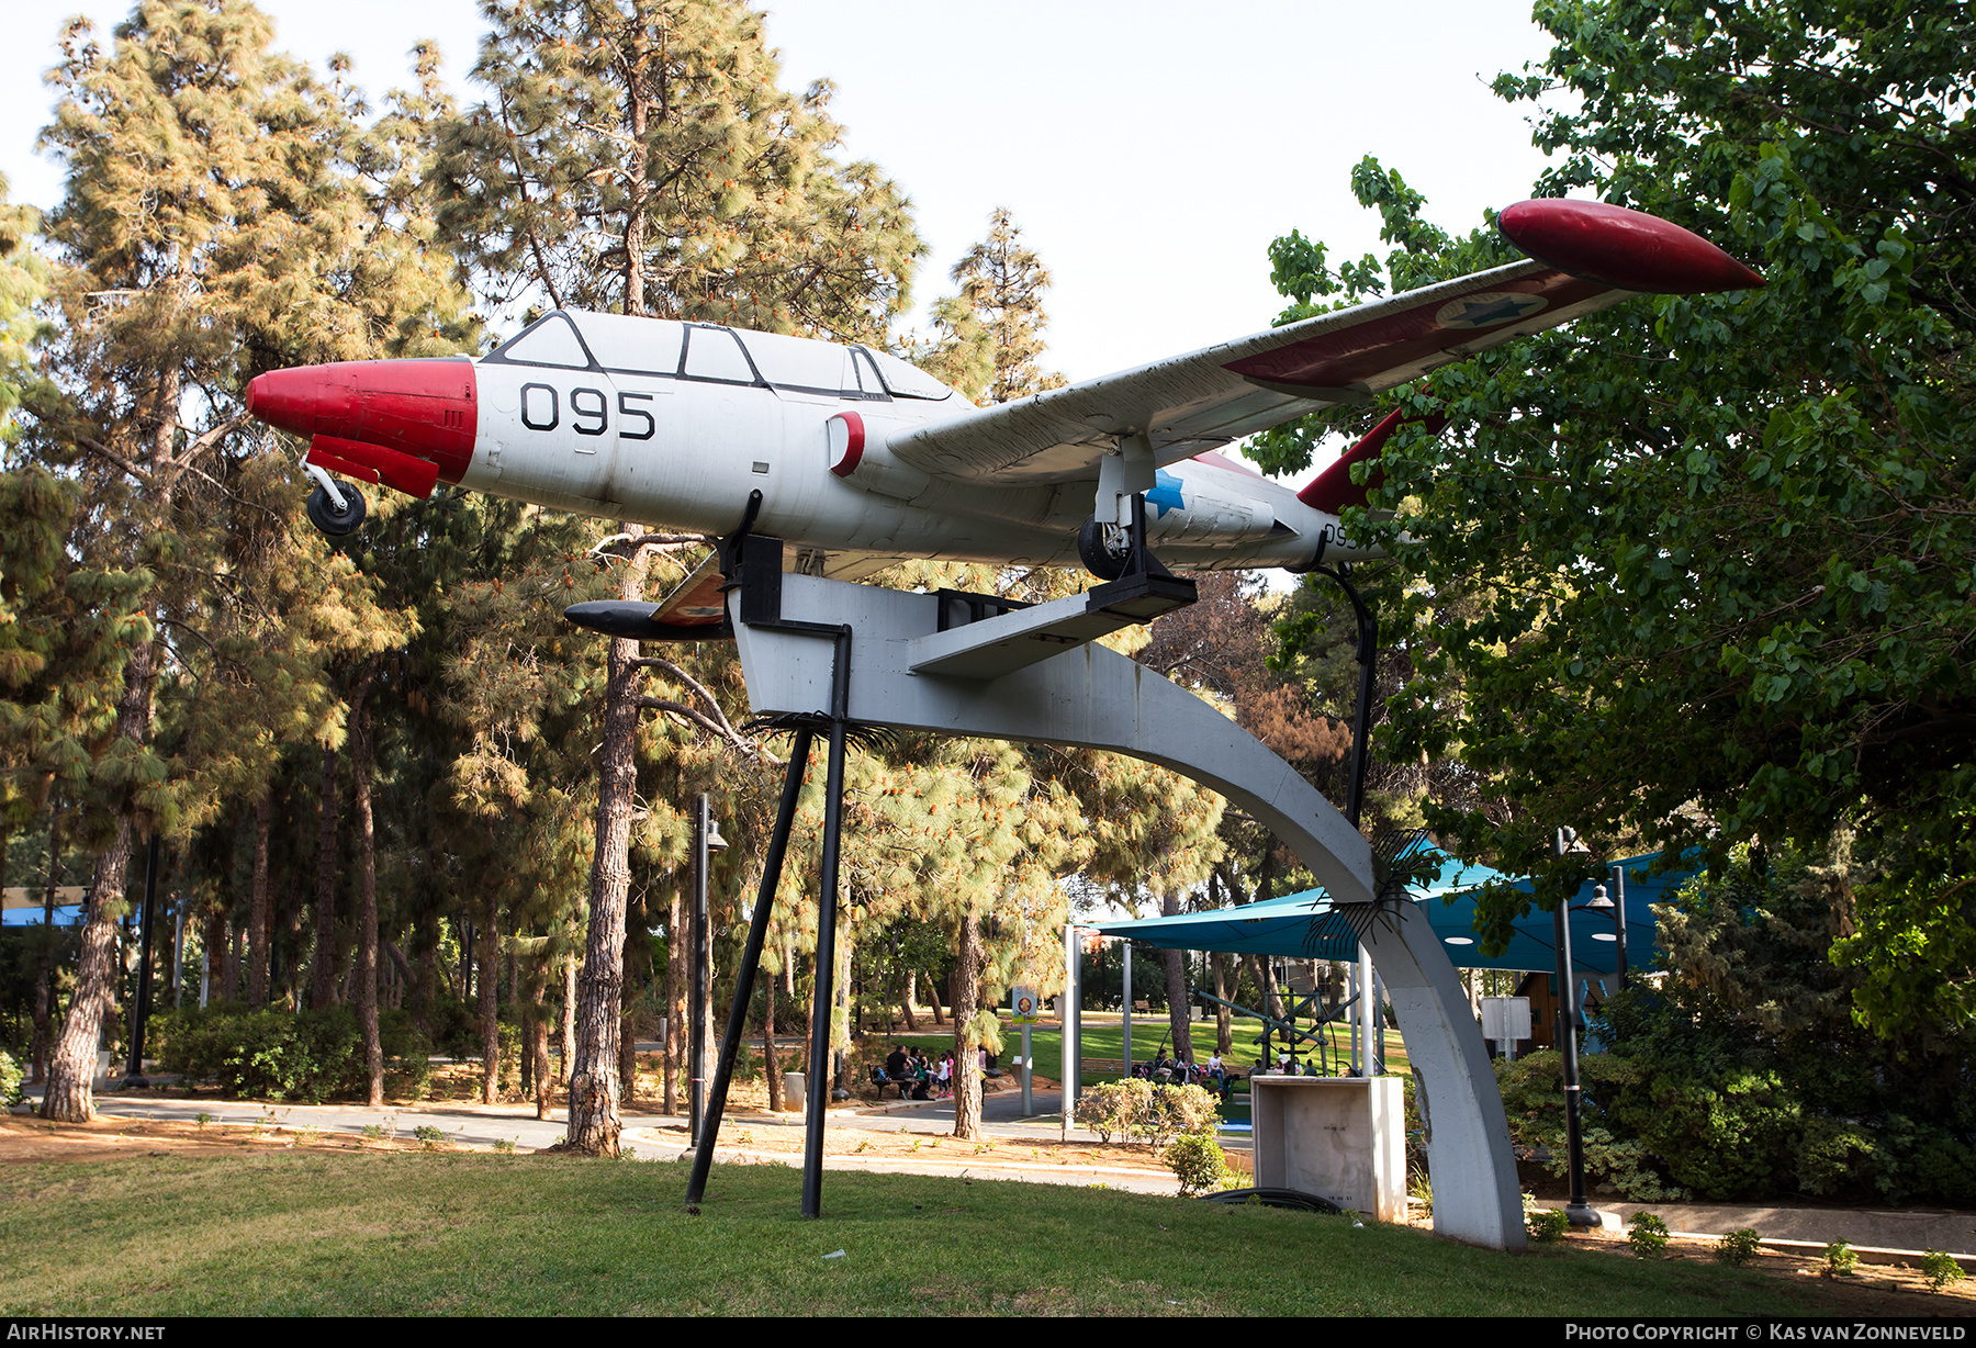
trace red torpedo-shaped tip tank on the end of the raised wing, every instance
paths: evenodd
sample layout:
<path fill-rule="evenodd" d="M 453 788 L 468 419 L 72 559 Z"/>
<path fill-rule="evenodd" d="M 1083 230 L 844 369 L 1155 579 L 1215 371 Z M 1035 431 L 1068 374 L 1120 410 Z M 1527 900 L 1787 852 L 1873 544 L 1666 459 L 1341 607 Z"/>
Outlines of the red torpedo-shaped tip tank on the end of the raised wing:
<path fill-rule="evenodd" d="M 1648 295 L 1753 291 L 1763 277 L 1676 223 L 1605 202 L 1518 202 L 1496 227 L 1539 263 Z"/>

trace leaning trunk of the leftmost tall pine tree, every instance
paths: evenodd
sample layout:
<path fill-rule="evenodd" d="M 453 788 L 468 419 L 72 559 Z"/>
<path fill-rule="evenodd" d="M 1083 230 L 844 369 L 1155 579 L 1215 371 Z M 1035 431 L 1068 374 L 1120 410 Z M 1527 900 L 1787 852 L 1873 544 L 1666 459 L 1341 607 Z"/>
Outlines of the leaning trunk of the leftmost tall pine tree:
<path fill-rule="evenodd" d="M 117 737 L 136 747 L 150 741 L 152 660 L 152 642 L 138 642 L 124 666 L 123 698 L 117 700 Z M 117 1004 L 117 919 L 126 907 L 124 884 L 136 826 L 136 802 L 126 795 L 111 814 L 109 846 L 97 854 L 95 874 L 89 878 L 89 919 L 83 923 L 69 1014 L 61 1022 L 61 1036 L 47 1063 L 43 1119 L 89 1123 L 97 1113 L 91 1077 L 103 1042 L 103 1016 Z"/>

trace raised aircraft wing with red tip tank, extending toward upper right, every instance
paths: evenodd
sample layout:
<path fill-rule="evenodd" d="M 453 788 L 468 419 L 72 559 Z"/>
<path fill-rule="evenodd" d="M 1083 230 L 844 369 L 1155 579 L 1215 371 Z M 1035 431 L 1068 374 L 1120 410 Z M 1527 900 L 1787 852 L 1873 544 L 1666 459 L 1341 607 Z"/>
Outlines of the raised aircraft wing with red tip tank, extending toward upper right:
<path fill-rule="evenodd" d="M 1010 486 L 1093 478 L 1130 435 L 1170 464 L 1634 295 L 1763 285 L 1707 239 L 1603 202 L 1522 202 L 1498 225 L 1527 261 L 972 409 L 887 447 L 923 472 Z"/>

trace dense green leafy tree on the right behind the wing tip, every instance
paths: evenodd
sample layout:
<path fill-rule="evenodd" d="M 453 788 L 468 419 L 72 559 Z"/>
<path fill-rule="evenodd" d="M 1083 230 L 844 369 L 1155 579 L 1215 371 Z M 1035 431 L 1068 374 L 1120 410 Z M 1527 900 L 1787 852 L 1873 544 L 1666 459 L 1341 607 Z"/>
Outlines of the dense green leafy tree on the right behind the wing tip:
<path fill-rule="evenodd" d="M 1555 49 L 1498 81 L 1569 97 L 1539 115 L 1563 158 L 1537 192 L 1676 219 L 1769 287 L 1638 298 L 1263 445 L 1288 466 L 1391 405 L 1452 417 L 1395 435 L 1373 510 L 1348 512 L 1413 579 L 1403 625 L 1439 640 L 1389 702 L 1389 753 L 1458 755 L 1514 800 L 1427 816 L 1543 872 L 1545 903 L 1575 880 L 1547 856 L 1559 824 L 1721 854 L 1853 822 L 1861 852 L 1915 858 L 1863 913 L 1970 874 L 1968 16 L 1610 0 L 1537 20 Z M 1395 249 L 1332 275 L 1278 241 L 1298 304 L 1508 257 L 1427 225 L 1397 174 L 1367 162 L 1354 186 Z"/>

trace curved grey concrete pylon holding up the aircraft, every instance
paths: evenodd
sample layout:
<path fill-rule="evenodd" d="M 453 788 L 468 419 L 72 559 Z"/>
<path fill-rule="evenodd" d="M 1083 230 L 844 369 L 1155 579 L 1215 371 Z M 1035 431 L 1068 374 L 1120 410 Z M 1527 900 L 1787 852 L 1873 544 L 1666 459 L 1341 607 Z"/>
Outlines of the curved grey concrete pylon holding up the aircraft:
<path fill-rule="evenodd" d="M 1296 852 L 1336 903 L 1373 899 L 1371 846 L 1255 735 L 1186 688 L 1099 644 L 994 680 L 915 674 L 937 595 L 810 575 L 782 577 L 784 619 L 852 629 L 850 719 L 948 735 L 1109 749 L 1213 787 Z M 816 632 L 749 627 L 729 595 L 749 708 L 757 716 L 830 706 L 832 646 Z M 1474 1245 L 1523 1245 L 1510 1125 L 1454 967 L 1427 917 L 1401 901 L 1363 937 L 1385 980 L 1407 1057 L 1419 1067 L 1435 1168 L 1435 1231 Z"/>

